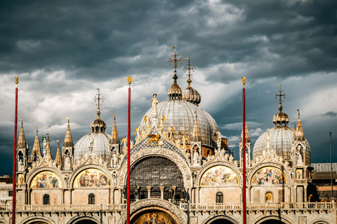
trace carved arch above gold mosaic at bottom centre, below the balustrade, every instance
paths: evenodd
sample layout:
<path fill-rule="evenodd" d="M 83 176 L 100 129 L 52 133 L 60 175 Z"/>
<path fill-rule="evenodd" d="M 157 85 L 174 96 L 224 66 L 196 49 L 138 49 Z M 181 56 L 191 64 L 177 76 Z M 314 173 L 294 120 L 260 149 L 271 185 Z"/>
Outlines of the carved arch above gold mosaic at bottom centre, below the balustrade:
<path fill-rule="evenodd" d="M 147 209 L 150 209 L 152 211 L 163 211 L 169 214 L 173 220 L 178 224 L 187 224 L 187 219 L 183 214 L 183 211 L 178 209 L 178 207 L 175 204 L 172 204 L 166 200 L 161 199 L 145 199 L 140 200 L 138 202 L 135 202 L 131 204 L 130 207 L 130 215 L 131 220 L 136 220 L 135 218 L 141 214 L 144 213 Z M 121 218 L 119 219 L 119 222 L 117 224 L 125 224 L 126 223 L 126 211 L 124 211 L 121 214 Z"/>

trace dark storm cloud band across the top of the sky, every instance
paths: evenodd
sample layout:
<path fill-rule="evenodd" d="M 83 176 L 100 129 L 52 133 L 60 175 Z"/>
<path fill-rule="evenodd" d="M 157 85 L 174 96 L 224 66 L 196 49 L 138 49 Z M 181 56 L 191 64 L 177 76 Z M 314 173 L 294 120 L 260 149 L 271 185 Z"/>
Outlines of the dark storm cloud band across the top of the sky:
<path fill-rule="evenodd" d="M 242 65 L 256 78 L 336 71 L 336 1 L 1 4 L 2 72 L 62 68 L 74 78 L 148 73 L 169 69 L 171 45 L 198 67 L 218 65 L 213 80 L 219 74 L 226 82 L 236 79 Z"/>

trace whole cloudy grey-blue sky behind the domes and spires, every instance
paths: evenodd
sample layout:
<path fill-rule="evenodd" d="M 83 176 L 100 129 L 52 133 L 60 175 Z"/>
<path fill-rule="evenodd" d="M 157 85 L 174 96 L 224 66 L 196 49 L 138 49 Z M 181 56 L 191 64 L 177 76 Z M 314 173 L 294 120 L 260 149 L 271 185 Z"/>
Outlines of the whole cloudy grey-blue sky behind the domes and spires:
<path fill-rule="evenodd" d="M 286 92 L 289 126 L 300 109 L 312 162 L 329 162 L 329 132 L 337 144 L 337 1 L 142 0 L 0 2 L 0 175 L 12 174 L 15 76 L 18 118 L 29 148 L 50 134 L 53 156 L 65 137 L 90 132 L 99 87 L 101 118 L 119 137 L 127 132 L 128 85 L 133 76 L 132 127 L 150 109 L 153 93 L 167 99 L 176 45 L 197 68 L 192 87 L 201 109 L 216 119 L 238 157 L 242 83 L 253 142 L 273 127 L 277 85 Z M 182 65 L 184 65 L 183 62 Z M 187 86 L 183 66 L 178 84 Z M 20 127 L 20 125 L 18 126 Z M 337 162 L 337 151 L 333 151 Z"/>

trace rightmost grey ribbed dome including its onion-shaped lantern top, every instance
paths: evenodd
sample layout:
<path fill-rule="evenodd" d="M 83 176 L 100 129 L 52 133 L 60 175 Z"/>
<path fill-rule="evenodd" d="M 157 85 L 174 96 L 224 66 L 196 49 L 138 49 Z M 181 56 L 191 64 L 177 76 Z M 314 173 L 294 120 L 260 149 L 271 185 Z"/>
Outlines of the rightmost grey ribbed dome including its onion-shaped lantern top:
<path fill-rule="evenodd" d="M 284 160 L 292 164 L 291 146 L 293 145 L 293 137 L 296 131 L 288 127 L 289 117 L 286 113 L 282 112 L 281 104 L 279 104 L 279 113 L 275 114 L 272 118 L 272 122 L 274 123 L 274 127 L 261 134 L 256 140 L 253 147 L 253 160 L 262 155 L 263 151 L 267 150 L 266 136 L 267 132 L 269 132 L 270 150 L 275 150 L 277 155 L 282 155 Z M 305 158 L 310 160 L 310 145 L 306 139 L 304 139 L 304 141 L 306 145 L 305 153 L 308 154 Z"/>

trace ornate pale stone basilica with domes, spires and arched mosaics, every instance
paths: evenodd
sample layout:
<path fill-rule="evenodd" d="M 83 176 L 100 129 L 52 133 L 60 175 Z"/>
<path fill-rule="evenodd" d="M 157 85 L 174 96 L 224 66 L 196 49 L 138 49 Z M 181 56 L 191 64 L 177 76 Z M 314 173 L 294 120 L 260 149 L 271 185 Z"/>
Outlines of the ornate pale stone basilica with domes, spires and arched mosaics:
<path fill-rule="evenodd" d="M 173 57 L 176 64 L 176 52 Z M 190 75 L 185 90 L 177 78 L 175 69 L 169 99 L 158 102 L 154 94 L 131 141 L 131 223 L 243 223 L 243 181 L 247 223 L 336 223 L 336 204 L 317 202 L 310 183 L 310 145 L 299 113 L 292 129 L 279 103 L 270 129 L 253 146 L 246 128 L 244 180 L 242 138 L 234 158 L 216 120 L 199 108 Z M 29 149 L 21 127 L 15 223 L 126 223 L 127 139 L 119 139 L 116 121 L 107 129 L 103 116 L 98 106 L 89 133 L 76 144 L 68 122 L 55 160 L 48 137 L 40 146 L 37 134 Z M 11 223 L 11 204 L 0 205 L 0 223 Z"/>

